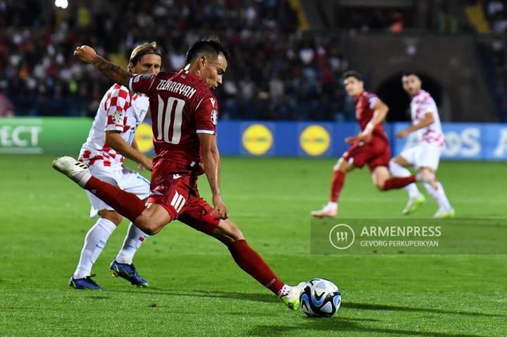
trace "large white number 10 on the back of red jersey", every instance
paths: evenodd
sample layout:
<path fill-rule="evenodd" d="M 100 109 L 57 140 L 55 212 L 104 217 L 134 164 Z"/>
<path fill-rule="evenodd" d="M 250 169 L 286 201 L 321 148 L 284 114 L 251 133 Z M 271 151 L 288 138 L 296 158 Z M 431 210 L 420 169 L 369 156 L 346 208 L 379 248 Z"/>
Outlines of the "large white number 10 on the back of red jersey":
<path fill-rule="evenodd" d="M 176 103 L 176 108 L 173 109 Z M 170 97 L 168 105 L 164 109 L 164 101 L 158 95 L 158 116 L 157 116 L 157 137 L 159 141 L 163 139 L 165 143 L 180 144 L 181 139 L 181 123 L 183 120 L 183 106 L 182 99 Z M 174 113 L 173 113 L 174 111 Z M 173 117 L 174 116 L 174 117 Z M 173 120 L 173 136 L 169 139 L 171 120 Z M 163 125 L 163 129 L 162 129 Z"/>

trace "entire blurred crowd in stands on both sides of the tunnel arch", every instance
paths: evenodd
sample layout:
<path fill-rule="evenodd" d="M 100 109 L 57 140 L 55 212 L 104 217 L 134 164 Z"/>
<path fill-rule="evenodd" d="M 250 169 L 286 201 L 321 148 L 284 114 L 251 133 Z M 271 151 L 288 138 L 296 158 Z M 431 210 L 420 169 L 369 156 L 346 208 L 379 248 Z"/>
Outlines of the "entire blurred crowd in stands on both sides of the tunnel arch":
<path fill-rule="evenodd" d="M 356 34 L 423 30 L 475 34 L 503 120 L 506 1 L 450 2 L 430 1 L 422 21 L 406 7 L 349 8 L 314 30 L 300 2 L 289 0 L 70 0 L 65 9 L 53 1 L 0 0 L 0 115 L 94 115 L 111 82 L 73 57 L 77 45 L 89 44 L 126 65 L 134 46 L 156 41 L 163 70 L 173 71 L 184 66 L 189 44 L 217 34 L 231 51 L 224 84 L 215 92 L 221 118 L 350 120 L 353 104 L 341 81 L 354 57 L 347 41 Z"/>

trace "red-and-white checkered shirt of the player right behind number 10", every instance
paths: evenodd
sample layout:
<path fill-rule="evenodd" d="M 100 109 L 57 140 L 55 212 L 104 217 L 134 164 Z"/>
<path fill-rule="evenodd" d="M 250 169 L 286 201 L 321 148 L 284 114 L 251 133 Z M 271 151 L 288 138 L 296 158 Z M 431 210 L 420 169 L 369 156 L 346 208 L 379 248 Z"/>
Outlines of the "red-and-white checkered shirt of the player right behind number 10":
<path fill-rule="evenodd" d="M 87 165 L 121 166 L 123 155 L 106 146 L 106 131 L 119 131 L 127 144 L 132 144 L 135 130 L 148 108 L 147 96 L 133 94 L 126 87 L 114 84 L 102 98 L 87 141 L 81 148 L 80 161 Z"/>

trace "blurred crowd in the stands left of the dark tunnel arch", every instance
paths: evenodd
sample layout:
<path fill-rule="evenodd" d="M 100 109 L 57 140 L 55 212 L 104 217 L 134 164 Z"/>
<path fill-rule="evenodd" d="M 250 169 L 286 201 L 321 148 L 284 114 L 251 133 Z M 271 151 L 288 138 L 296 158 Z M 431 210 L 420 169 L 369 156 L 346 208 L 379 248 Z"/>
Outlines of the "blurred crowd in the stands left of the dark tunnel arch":
<path fill-rule="evenodd" d="M 339 45 L 332 36 L 302 34 L 289 1 L 151 0 L 118 7 L 77 0 L 65 10 L 21 2 L 0 0 L 0 87 L 18 115 L 94 115 L 111 82 L 73 56 L 80 44 L 126 65 L 136 44 L 156 41 L 163 69 L 174 71 L 184 66 L 189 44 L 211 33 L 231 52 L 215 92 L 221 117 L 332 120 L 343 113 L 339 79 L 347 63 Z"/>

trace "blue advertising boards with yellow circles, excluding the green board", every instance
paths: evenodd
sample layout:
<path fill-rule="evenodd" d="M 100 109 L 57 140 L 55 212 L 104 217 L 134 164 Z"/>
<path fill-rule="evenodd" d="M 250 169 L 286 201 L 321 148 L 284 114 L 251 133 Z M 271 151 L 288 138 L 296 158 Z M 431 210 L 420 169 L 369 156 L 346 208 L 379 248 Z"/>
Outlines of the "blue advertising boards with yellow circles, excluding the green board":
<path fill-rule="evenodd" d="M 143 123 L 144 125 L 144 123 Z M 143 126 L 142 125 L 142 126 Z M 415 134 L 397 139 L 394 134 L 407 123 L 384 125 L 397 155 L 417 144 Z M 446 148 L 443 159 L 507 160 L 507 124 L 442 123 Z M 139 138 L 149 146 L 151 127 L 144 125 Z M 149 132 L 149 134 L 146 134 Z M 218 148 L 222 155 L 339 157 L 346 151 L 346 136 L 358 134 L 356 122 L 267 122 L 224 120 L 218 123 Z M 152 146 L 143 148 L 153 151 Z"/>

